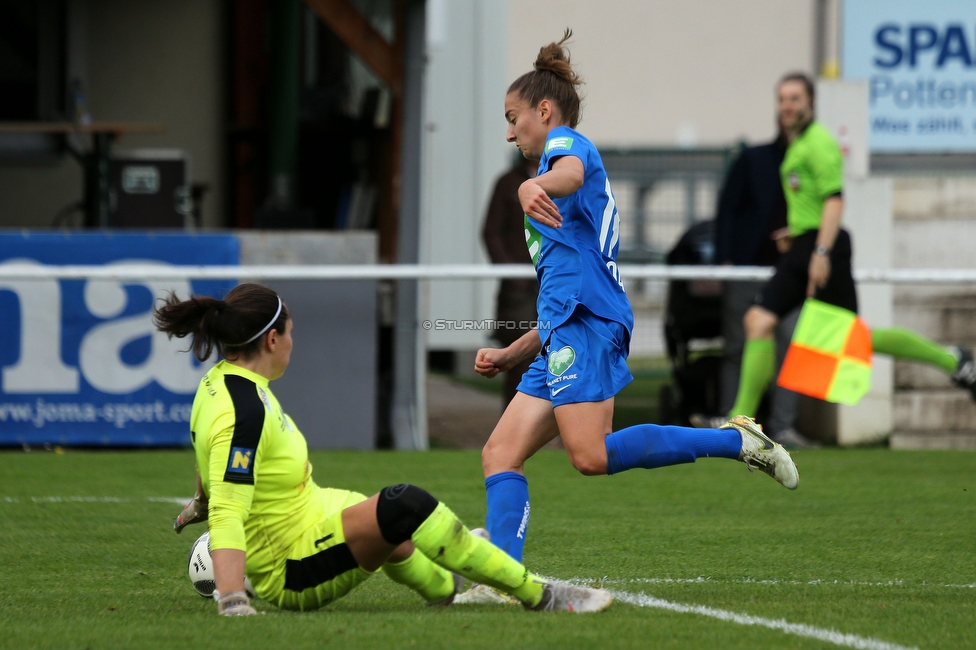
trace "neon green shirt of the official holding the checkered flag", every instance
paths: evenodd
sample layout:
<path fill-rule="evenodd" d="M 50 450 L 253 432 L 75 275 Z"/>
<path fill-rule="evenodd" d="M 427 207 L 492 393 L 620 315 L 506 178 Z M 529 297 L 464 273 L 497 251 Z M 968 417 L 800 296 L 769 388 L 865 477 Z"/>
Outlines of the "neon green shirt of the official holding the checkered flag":
<path fill-rule="evenodd" d="M 824 202 L 844 189 L 844 157 L 834 137 L 811 122 L 786 149 L 779 173 L 790 234 L 820 228 Z"/>

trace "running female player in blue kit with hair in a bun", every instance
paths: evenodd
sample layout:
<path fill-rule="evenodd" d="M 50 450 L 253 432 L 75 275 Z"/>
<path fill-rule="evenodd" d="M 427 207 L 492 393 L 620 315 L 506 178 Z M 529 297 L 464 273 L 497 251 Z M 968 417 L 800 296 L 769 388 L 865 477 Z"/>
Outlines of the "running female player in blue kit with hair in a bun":
<path fill-rule="evenodd" d="M 616 474 L 694 462 L 740 460 L 787 488 L 796 466 L 750 418 L 719 429 L 643 424 L 612 432 L 613 398 L 633 377 L 627 353 L 634 317 L 617 271 L 620 218 L 593 144 L 576 125 L 582 83 L 563 44 L 539 51 L 535 69 L 505 97 L 507 140 L 539 174 L 522 183 L 525 237 L 539 278 L 539 328 L 503 349 L 478 351 L 475 370 L 494 377 L 535 357 L 482 452 L 493 543 L 522 559 L 529 520 L 525 461 L 557 435 L 580 473 Z M 530 221 L 531 219 L 531 221 Z"/>

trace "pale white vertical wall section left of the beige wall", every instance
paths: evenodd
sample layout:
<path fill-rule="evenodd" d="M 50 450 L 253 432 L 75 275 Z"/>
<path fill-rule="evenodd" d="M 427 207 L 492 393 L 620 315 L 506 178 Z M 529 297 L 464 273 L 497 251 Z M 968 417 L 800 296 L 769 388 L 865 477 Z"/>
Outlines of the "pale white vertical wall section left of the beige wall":
<path fill-rule="evenodd" d="M 421 261 L 482 264 L 481 224 L 495 178 L 510 164 L 505 142 L 506 15 L 499 0 L 428 0 L 424 93 Z M 497 111 L 492 110 L 498 107 Z M 482 320 L 494 314 L 495 282 L 425 283 L 423 318 Z M 490 332 L 434 328 L 431 349 L 486 345 Z"/>

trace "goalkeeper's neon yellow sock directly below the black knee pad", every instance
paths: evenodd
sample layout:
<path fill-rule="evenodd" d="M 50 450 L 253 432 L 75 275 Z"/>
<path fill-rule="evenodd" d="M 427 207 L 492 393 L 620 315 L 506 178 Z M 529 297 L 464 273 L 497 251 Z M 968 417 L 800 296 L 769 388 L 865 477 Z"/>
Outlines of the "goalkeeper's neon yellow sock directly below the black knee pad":
<path fill-rule="evenodd" d="M 471 534 L 443 503 L 411 536 L 431 560 L 465 578 L 494 587 L 529 607 L 542 599 L 543 580 L 488 540 Z"/>

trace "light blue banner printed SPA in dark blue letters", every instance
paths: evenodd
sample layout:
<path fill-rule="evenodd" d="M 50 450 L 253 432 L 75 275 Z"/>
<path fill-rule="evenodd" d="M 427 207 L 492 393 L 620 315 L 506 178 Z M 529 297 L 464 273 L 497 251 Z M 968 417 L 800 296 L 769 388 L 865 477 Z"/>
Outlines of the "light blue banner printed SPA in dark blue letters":
<path fill-rule="evenodd" d="M 872 152 L 976 151 L 976 2 L 844 0 L 845 78 L 866 79 Z"/>

